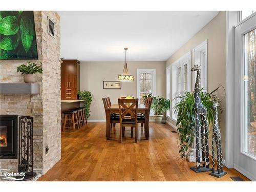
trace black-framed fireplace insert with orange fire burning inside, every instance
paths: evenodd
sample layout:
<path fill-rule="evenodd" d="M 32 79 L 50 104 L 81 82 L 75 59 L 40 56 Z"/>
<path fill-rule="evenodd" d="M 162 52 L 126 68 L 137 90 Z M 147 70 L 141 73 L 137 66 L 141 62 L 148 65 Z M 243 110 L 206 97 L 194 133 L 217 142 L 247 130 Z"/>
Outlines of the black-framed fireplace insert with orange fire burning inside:
<path fill-rule="evenodd" d="M 17 115 L 0 115 L 0 159 L 17 159 Z"/>

